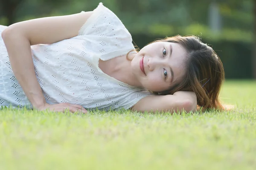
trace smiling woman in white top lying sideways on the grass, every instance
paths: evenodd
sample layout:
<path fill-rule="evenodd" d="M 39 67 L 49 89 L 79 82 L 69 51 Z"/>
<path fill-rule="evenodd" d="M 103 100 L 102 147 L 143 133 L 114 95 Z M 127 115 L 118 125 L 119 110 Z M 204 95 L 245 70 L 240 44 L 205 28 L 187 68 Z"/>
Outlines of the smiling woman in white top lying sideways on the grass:
<path fill-rule="evenodd" d="M 0 26 L 0 105 L 195 111 L 219 108 L 223 65 L 195 36 L 154 41 L 136 51 L 108 8 Z M 86 108 L 86 109 L 84 109 Z"/>

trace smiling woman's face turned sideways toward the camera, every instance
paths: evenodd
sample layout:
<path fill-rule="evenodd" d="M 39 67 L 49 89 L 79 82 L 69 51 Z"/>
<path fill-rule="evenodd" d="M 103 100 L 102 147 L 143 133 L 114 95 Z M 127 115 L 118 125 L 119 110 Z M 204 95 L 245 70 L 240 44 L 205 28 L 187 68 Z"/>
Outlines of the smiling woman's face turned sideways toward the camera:
<path fill-rule="evenodd" d="M 162 92 L 182 81 L 185 58 L 186 51 L 178 43 L 151 43 L 132 59 L 132 72 L 143 88 Z"/>

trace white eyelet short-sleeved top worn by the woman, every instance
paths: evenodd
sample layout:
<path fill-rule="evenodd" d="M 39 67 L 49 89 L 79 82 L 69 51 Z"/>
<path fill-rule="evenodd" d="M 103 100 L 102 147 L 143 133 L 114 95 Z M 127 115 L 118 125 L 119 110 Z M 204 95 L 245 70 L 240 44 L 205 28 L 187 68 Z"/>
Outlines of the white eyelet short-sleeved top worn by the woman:
<path fill-rule="evenodd" d="M 0 32 L 5 29 L 0 27 Z M 150 95 L 99 69 L 106 61 L 134 49 L 128 30 L 116 15 L 99 4 L 76 37 L 52 44 L 32 46 L 38 82 L 49 104 L 80 104 L 87 109 L 129 109 Z M 10 67 L 0 38 L 0 105 L 32 107 Z"/>

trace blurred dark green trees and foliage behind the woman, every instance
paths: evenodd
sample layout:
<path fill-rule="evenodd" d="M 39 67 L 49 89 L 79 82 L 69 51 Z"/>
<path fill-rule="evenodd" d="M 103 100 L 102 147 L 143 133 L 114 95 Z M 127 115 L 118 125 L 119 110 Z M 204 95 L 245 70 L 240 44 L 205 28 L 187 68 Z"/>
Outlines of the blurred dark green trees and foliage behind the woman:
<path fill-rule="evenodd" d="M 220 56 L 227 79 L 256 79 L 256 0 L 0 0 L 0 25 L 92 11 L 102 2 L 140 48 L 173 35 L 198 35 Z"/>

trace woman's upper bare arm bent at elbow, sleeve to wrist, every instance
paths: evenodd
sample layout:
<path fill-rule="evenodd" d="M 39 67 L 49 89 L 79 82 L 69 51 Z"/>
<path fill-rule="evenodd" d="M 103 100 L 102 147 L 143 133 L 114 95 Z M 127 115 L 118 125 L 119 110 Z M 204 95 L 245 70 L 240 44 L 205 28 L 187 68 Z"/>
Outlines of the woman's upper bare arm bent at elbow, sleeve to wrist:
<path fill-rule="evenodd" d="M 27 20 L 2 32 L 14 75 L 34 108 L 44 107 L 46 101 L 35 75 L 30 46 L 55 43 L 78 35 L 92 13 Z"/>

